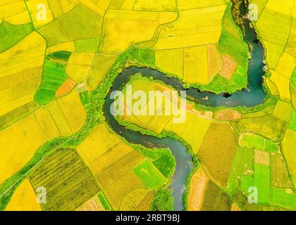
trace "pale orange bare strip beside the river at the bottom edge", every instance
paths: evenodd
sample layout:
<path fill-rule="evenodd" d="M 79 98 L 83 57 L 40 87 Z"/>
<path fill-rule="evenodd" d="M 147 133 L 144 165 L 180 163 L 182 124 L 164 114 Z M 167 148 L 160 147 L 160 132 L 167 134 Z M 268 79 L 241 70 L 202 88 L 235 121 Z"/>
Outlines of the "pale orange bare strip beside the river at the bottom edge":
<path fill-rule="evenodd" d="M 199 211 L 202 208 L 202 201 L 208 181 L 209 177 L 206 176 L 206 172 L 204 172 L 202 167 L 192 176 L 190 182 L 190 192 L 188 195 L 188 210 Z"/>

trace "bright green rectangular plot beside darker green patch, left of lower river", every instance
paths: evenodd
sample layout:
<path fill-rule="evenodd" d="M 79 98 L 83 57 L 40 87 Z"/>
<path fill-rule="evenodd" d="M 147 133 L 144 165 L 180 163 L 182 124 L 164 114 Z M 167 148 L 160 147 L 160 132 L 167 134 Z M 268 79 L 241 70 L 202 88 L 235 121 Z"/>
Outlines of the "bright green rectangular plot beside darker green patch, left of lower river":
<path fill-rule="evenodd" d="M 164 176 L 148 160 L 137 165 L 133 171 L 149 189 L 159 188 L 165 182 Z"/>

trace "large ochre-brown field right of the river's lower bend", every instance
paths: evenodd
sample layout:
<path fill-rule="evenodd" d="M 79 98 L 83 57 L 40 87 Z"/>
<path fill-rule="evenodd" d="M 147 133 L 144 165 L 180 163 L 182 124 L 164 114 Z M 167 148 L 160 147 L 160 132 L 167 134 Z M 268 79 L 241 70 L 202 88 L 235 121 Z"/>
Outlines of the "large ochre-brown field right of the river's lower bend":
<path fill-rule="evenodd" d="M 228 123 L 212 123 L 197 156 L 211 176 L 226 187 L 231 162 L 237 148 L 237 137 Z"/>

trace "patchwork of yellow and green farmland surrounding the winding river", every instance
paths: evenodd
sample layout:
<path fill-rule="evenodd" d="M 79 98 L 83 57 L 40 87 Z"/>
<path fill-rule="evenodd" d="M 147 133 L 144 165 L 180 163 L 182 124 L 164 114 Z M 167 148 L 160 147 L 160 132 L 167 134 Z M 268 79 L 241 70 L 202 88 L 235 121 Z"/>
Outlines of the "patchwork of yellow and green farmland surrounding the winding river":
<path fill-rule="evenodd" d="M 249 91 L 253 49 L 235 2 L 2 0 L 0 210 L 173 210 L 178 154 L 116 134 L 105 98 L 131 66 L 164 72 L 185 89 Z M 185 210 L 296 210 L 296 1 L 250 3 L 254 42 L 265 51 L 263 104 L 206 107 L 187 98 L 178 109 L 180 96 L 176 105 L 149 96 L 173 86 L 140 74 L 128 82 L 131 94 L 149 96 L 137 106 L 154 104 L 153 112 L 135 115 L 120 99 L 125 115 L 116 122 L 176 139 L 192 156 Z"/>

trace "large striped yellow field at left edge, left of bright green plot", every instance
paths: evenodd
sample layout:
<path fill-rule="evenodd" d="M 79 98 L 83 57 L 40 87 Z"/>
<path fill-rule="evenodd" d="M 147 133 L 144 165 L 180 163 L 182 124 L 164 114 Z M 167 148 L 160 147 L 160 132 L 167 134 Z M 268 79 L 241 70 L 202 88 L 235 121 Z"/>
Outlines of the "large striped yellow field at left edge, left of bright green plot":
<path fill-rule="evenodd" d="M 0 115 L 32 102 L 38 89 L 45 41 L 37 32 L 0 54 Z"/>

